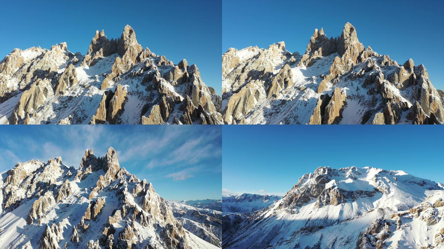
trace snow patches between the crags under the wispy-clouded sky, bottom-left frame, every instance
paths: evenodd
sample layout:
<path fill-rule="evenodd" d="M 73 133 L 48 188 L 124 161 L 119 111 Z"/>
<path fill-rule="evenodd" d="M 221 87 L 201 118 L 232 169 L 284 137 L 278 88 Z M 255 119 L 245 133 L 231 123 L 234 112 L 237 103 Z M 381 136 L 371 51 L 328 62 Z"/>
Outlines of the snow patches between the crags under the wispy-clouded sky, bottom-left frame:
<path fill-rule="evenodd" d="M 25 165 L 25 169 L 29 172 L 35 171 L 38 167 L 37 163 L 27 163 Z M 22 248 L 26 243 L 30 243 L 32 247 L 29 248 L 39 248 L 39 241 L 41 234 L 44 232 L 46 225 L 51 225 L 53 223 L 62 222 L 63 229 L 63 239 L 61 239 L 58 243 L 60 248 L 64 248 L 65 242 L 68 243 L 68 248 L 85 248 L 86 244 L 90 240 L 98 240 L 102 235 L 101 232 L 105 224 L 108 221 L 108 216 L 111 216 L 114 210 L 119 209 L 122 205 L 122 201 L 119 200 L 118 195 L 116 194 L 116 190 L 113 189 L 114 186 L 117 186 L 119 183 L 119 179 L 116 179 L 112 182 L 108 187 L 105 187 L 99 195 L 96 195 L 94 199 L 98 197 L 105 198 L 105 205 L 101 210 L 98 218 L 96 220 L 88 221 L 89 224 L 88 232 L 81 233 L 82 241 L 80 241 L 79 245 L 73 245 L 70 241 L 72 234 L 72 227 L 77 226 L 79 224 L 82 216 L 85 214 L 85 210 L 87 210 L 88 204 L 90 203 L 89 196 L 92 191 L 92 187 L 96 186 L 97 180 L 100 175 L 104 175 L 105 172 L 102 170 L 92 172 L 87 175 L 85 179 L 81 181 L 76 179 L 75 177 L 75 169 L 63 167 L 61 166 L 63 172 L 60 174 L 63 175 L 64 179 L 69 179 L 71 188 L 73 193 L 69 195 L 67 198 L 64 198 L 62 201 L 57 202 L 52 205 L 50 210 L 47 211 L 40 219 L 41 224 L 38 222 L 34 222 L 31 225 L 28 225 L 26 222 L 26 218 L 28 217 L 29 210 L 32 204 L 36 201 L 37 198 L 32 199 L 24 199 L 24 202 L 21 202 L 20 206 L 13 209 L 8 213 L 4 213 L 0 217 L 0 248 L 5 249 L 17 249 Z M 66 176 L 67 171 L 72 171 L 73 175 Z M 4 179 L 6 178 L 6 174 L 2 173 L 0 184 L 3 185 Z M 130 176 L 123 176 L 130 177 Z M 56 181 L 56 185 L 62 184 L 62 176 L 59 177 Z M 138 183 L 128 183 L 128 188 L 131 191 L 135 184 Z M 0 185 L 0 186 L 1 186 Z M 128 190 L 127 190 L 128 191 Z M 3 190 L 0 191 L 3 193 Z M 142 210 L 140 205 L 140 200 L 133 198 L 133 195 L 129 192 L 126 192 L 126 198 L 130 200 L 132 205 L 134 205 L 137 209 Z M 139 197 L 140 198 L 140 197 Z M 3 195 L 0 194 L 0 201 L 3 202 Z M 152 214 L 147 214 L 151 216 Z M 119 221 L 117 223 L 112 224 L 115 227 L 114 238 L 117 241 L 119 232 L 124 229 L 125 220 Z M 153 243 L 159 243 L 159 230 L 155 228 L 155 226 L 141 226 L 139 223 L 134 224 L 136 229 L 138 230 L 140 241 L 143 241 L 140 246 L 141 248 L 145 248 L 145 246 L 152 241 Z M 91 232 L 98 231 L 98 232 Z M 218 248 L 210 243 L 203 241 L 199 237 L 196 237 L 194 234 L 186 231 L 186 237 L 188 243 L 192 245 L 192 248 L 196 249 L 214 249 Z M 28 242 L 29 241 L 29 242 Z"/>

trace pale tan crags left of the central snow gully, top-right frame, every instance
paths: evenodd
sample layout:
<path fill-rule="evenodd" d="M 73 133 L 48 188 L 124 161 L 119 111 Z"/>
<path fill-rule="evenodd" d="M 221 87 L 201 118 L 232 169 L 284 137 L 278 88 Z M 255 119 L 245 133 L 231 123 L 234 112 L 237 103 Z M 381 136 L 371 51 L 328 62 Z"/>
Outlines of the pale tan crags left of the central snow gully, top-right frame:
<path fill-rule="evenodd" d="M 259 101 L 265 100 L 267 95 L 275 96 L 276 92 L 292 83 L 289 82 L 292 74 L 288 65 L 281 70 L 279 76 L 273 79 L 270 77 L 274 66 L 268 58 L 282 61 L 287 56 L 291 56 L 285 50 L 285 43 L 270 45 L 268 49 L 248 47 L 242 53 L 252 54 L 253 58 L 242 59 L 239 64 L 237 64 L 239 56 L 236 53 L 241 53 L 241 51 L 230 49 L 223 59 L 226 61 L 224 64 L 226 71 L 225 79 L 222 82 L 222 98 L 228 100 L 222 109 L 223 120 L 226 124 L 242 123 L 246 114 L 250 113 Z M 233 65 L 236 66 L 230 69 Z"/>

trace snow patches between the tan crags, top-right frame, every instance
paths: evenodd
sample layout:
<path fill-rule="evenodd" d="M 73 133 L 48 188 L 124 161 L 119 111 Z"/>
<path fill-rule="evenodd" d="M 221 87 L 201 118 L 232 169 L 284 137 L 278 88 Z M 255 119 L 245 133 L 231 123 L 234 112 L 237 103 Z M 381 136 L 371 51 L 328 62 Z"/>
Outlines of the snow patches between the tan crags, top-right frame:
<path fill-rule="evenodd" d="M 237 52 L 240 63 L 246 63 L 255 59 L 256 53 L 250 51 L 249 48 L 240 50 Z M 245 115 L 246 124 L 308 124 L 313 110 L 316 107 L 317 99 L 321 94 L 332 95 L 333 89 L 338 87 L 342 91 L 345 91 L 346 102 L 340 124 L 361 124 L 367 122 L 368 119 L 364 118 L 365 114 L 369 110 L 377 109 L 378 112 L 382 112 L 384 106 L 380 106 L 382 103 L 381 95 L 376 94 L 376 99 L 373 100 L 373 95 L 368 94 L 368 90 L 362 87 L 365 78 L 369 74 L 378 73 L 377 70 L 371 70 L 366 72 L 363 77 L 353 78 L 353 72 L 359 72 L 368 63 L 368 60 L 377 60 L 381 57 L 367 58 L 364 62 L 357 63 L 353 66 L 353 69 L 349 72 L 341 75 L 339 82 L 334 85 L 331 82 L 327 83 L 327 88 L 322 93 L 317 93 L 317 88 L 321 83 L 322 75 L 328 75 L 330 66 L 333 63 L 334 58 L 338 56 L 337 53 L 330 54 L 325 57 L 317 58 L 316 62 L 309 67 L 297 66 L 297 62 L 294 63 L 292 68 L 293 84 L 289 85 L 287 89 L 282 90 L 276 97 L 266 98 L 262 101 L 258 101 L 254 108 Z M 269 58 L 267 62 L 275 65 L 273 74 L 276 75 L 281 67 L 287 63 L 282 58 Z M 392 74 L 397 66 L 381 66 L 380 70 L 387 77 Z M 225 108 L 230 96 L 236 92 L 233 91 L 232 82 L 228 78 L 222 79 L 222 88 L 224 92 L 224 99 L 222 100 L 222 109 Z M 415 102 L 413 99 L 413 88 L 407 87 L 405 89 L 397 89 L 393 84 L 386 84 L 386 86 L 396 94 L 401 101 L 407 103 L 407 106 L 412 106 Z M 301 90 L 301 87 L 305 89 Z M 263 86 L 259 86 L 262 94 L 266 94 Z M 372 105 L 372 101 L 375 101 Z M 406 115 L 408 112 L 403 112 L 398 124 L 411 124 L 412 121 L 407 120 Z M 374 115 L 374 114 L 373 114 Z"/>

